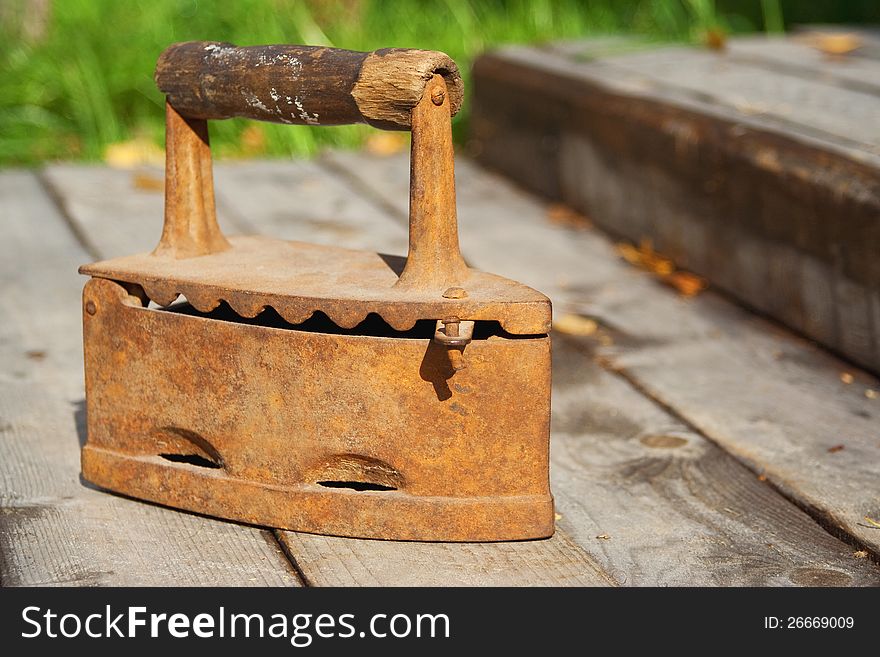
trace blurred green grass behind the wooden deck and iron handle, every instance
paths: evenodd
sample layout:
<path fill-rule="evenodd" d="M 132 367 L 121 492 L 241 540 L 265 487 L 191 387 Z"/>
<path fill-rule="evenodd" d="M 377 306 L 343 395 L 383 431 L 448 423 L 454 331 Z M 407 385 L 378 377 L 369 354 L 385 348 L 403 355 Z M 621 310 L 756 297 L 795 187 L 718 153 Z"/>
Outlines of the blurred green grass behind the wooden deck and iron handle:
<path fill-rule="evenodd" d="M 449 53 L 467 76 L 475 56 L 505 43 L 627 33 L 699 44 L 877 20 L 877 0 L 0 0 L 0 165 L 161 163 L 163 99 L 152 73 L 175 41 L 418 47 Z M 457 141 L 467 124 L 465 107 Z M 358 147 L 370 134 L 240 120 L 211 130 L 221 158 L 308 156 Z"/>

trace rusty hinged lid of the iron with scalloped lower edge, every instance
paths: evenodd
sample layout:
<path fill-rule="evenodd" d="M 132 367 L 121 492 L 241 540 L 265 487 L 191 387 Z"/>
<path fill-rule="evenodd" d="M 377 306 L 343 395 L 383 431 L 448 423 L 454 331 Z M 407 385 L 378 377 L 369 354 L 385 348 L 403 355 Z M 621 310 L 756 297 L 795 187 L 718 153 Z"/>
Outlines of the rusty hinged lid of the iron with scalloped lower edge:
<path fill-rule="evenodd" d="M 321 311 L 351 328 L 373 312 L 401 331 L 419 319 L 450 315 L 497 320 L 510 333 L 549 330 L 547 297 L 493 274 L 469 270 L 461 283 L 467 297 L 447 299 L 445 288 L 397 286 L 395 269 L 403 258 L 265 237 L 231 237 L 229 242 L 232 248 L 197 258 L 125 256 L 80 271 L 140 284 L 161 306 L 183 294 L 203 312 L 226 301 L 242 317 L 255 317 L 268 306 L 292 324 Z"/>

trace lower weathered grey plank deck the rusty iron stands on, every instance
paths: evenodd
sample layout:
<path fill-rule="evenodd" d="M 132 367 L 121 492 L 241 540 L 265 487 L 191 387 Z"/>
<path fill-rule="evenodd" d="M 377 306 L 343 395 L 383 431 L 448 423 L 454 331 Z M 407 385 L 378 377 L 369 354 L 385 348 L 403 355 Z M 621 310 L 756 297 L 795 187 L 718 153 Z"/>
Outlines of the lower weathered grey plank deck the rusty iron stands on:
<path fill-rule="evenodd" d="M 221 223 L 405 253 L 407 167 L 405 154 L 353 153 L 221 164 Z M 557 318 L 598 324 L 554 334 L 552 539 L 332 538 L 91 488 L 76 270 L 152 248 L 160 176 L 0 172 L 3 586 L 880 583 L 880 527 L 866 519 L 880 519 L 880 382 L 711 290 L 659 285 L 601 232 L 551 221 L 466 159 L 465 257 L 546 292 Z"/>

